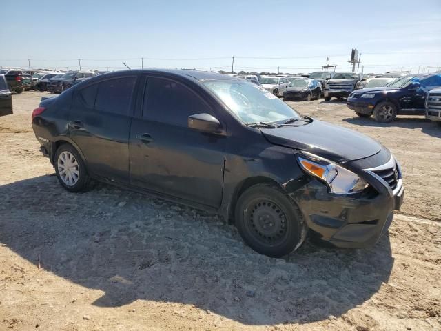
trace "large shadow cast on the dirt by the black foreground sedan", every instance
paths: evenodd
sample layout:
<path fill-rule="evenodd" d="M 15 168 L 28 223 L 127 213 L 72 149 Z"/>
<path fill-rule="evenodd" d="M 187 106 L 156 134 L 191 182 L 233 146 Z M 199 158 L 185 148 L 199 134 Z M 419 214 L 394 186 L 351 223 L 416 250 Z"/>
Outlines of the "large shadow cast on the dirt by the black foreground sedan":
<path fill-rule="evenodd" d="M 284 259 L 244 245 L 220 217 L 97 184 L 72 194 L 53 175 L 0 186 L 0 243 L 119 307 L 137 299 L 192 304 L 247 325 L 345 314 L 386 283 L 386 235 L 365 250 L 307 241 Z"/>

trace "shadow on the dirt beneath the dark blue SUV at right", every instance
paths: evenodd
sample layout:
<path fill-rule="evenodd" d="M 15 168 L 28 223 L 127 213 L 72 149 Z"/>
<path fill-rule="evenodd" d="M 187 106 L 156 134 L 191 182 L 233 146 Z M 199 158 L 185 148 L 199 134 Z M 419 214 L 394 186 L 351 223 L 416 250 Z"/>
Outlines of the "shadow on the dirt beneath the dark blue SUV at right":
<path fill-rule="evenodd" d="M 343 121 L 356 126 L 371 126 L 376 128 L 406 128 L 406 129 L 421 129 L 422 132 L 429 134 L 433 137 L 441 138 L 441 127 L 433 121 L 424 119 L 421 117 L 396 117 L 395 120 L 390 123 L 379 123 L 372 117 L 362 118 L 362 117 L 348 117 L 343 119 Z"/>

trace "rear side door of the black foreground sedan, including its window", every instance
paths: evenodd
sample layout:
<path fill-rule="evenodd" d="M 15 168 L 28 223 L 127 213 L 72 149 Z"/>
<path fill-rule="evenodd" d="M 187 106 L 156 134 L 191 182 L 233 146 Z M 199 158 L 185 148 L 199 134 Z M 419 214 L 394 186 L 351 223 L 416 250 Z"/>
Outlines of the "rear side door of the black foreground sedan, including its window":
<path fill-rule="evenodd" d="M 129 134 L 136 75 L 106 79 L 75 92 L 70 138 L 83 152 L 88 171 L 110 181 L 129 181 Z"/>

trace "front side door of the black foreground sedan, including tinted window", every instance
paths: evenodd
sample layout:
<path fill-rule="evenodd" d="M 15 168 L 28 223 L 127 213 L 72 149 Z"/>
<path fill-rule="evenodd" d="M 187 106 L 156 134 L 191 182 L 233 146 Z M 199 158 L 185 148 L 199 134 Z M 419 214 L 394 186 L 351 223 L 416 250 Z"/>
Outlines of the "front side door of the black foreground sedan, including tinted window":
<path fill-rule="evenodd" d="M 220 207 L 226 137 L 188 127 L 188 117 L 212 108 L 183 83 L 146 77 L 139 117 L 130 131 L 133 185 Z"/>

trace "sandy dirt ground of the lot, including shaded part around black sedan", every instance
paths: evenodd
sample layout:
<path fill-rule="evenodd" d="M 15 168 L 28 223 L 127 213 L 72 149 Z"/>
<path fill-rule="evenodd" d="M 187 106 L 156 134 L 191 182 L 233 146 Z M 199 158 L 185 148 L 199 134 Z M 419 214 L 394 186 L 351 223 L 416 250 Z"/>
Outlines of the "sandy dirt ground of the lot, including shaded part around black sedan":
<path fill-rule="evenodd" d="M 63 190 L 30 127 L 41 95 L 14 95 L 0 117 L 0 330 L 441 330 L 435 124 L 289 103 L 389 147 L 406 194 L 373 248 L 307 241 L 271 259 L 220 217 L 103 184 Z"/>

